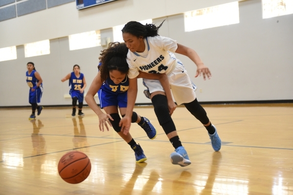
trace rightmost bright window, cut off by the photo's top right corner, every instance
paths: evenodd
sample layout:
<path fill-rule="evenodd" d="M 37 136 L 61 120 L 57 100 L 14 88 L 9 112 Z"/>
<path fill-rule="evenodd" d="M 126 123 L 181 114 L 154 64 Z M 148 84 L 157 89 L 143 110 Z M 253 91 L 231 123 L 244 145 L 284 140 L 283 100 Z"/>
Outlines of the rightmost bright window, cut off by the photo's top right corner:
<path fill-rule="evenodd" d="M 262 0 L 263 19 L 293 14 L 293 0 Z"/>

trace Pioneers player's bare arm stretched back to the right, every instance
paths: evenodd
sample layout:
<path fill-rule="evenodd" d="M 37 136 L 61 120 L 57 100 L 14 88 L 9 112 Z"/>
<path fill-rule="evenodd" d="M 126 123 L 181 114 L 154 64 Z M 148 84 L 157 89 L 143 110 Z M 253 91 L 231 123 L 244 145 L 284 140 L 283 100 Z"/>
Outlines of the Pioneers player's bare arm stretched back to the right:
<path fill-rule="evenodd" d="M 182 54 L 184 56 L 187 56 L 189 59 L 191 59 L 197 65 L 197 71 L 196 71 L 195 77 L 201 76 L 203 74 L 204 80 L 206 77 L 208 79 L 210 79 L 210 77 L 212 75 L 211 75 L 208 67 L 206 67 L 203 64 L 203 61 L 201 60 L 199 55 L 196 53 L 196 51 L 194 51 L 193 49 L 186 47 L 184 45 L 178 44 L 178 43 L 177 43 L 177 45 L 178 45 L 178 48 L 175 52 L 178 54 Z"/>

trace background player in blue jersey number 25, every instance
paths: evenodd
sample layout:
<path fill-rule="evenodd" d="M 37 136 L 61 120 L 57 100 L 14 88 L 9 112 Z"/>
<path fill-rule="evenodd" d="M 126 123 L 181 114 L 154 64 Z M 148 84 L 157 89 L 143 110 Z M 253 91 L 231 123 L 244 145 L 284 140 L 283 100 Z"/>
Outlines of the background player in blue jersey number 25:
<path fill-rule="evenodd" d="M 78 101 L 78 115 L 84 116 L 81 112 L 84 101 L 84 90 L 87 87 L 87 82 L 84 74 L 80 73 L 79 65 L 75 64 L 73 66 L 73 72 L 69 73 L 65 78 L 62 78 L 61 81 L 64 82 L 69 79 L 69 94 L 72 98 L 72 117 L 76 113 L 76 105 Z"/>

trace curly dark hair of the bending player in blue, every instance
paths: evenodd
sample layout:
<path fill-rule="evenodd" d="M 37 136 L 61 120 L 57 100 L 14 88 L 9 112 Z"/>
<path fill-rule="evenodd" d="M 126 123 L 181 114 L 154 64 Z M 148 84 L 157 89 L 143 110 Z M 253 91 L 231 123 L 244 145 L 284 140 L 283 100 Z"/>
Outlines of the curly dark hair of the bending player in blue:
<path fill-rule="evenodd" d="M 101 72 L 101 80 L 104 82 L 110 75 L 109 72 L 117 70 L 122 74 L 127 74 L 129 70 L 126 61 L 128 48 L 125 43 L 111 42 L 107 49 L 101 51 L 100 62 L 98 67 Z"/>

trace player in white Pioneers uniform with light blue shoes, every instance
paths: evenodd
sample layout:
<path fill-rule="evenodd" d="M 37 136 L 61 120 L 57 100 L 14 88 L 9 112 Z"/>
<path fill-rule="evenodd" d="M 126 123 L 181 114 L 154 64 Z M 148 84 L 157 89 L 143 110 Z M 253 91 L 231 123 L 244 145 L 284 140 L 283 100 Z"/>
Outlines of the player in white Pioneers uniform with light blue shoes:
<path fill-rule="evenodd" d="M 190 80 L 182 62 L 173 53 L 187 56 L 197 65 L 195 77 L 210 78 L 209 69 L 203 64 L 198 54 L 191 48 L 178 44 L 175 40 L 161 37 L 154 24 L 143 25 L 136 21 L 128 22 L 122 29 L 123 40 L 129 48 L 127 62 L 129 64 L 129 89 L 128 104 L 125 117 L 120 121 L 121 131 L 128 134 L 131 125 L 131 116 L 137 95 L 137 76 L 139 71 L 145 73 L 162 74 L 168 76 L 172 94 L 178 105 L 183 104 L 187 110 L 206 128 L 215 151 L 221 149 L 221 139 L 218 136 L 216 127 L 212 125 L 205 110 L 199 104 L 195 90 L 196 87 Z M 180 166 L 191 164 L 186 150 L 181 144 L 174 122 L 168 112 L 168 104 L 163 83 L 156 80 L 144 79 L 144 85 L 148 88 L 148 96 L 151 98 L 159 124 L 175 148 L 170 155 L 171 162 Z"/>

